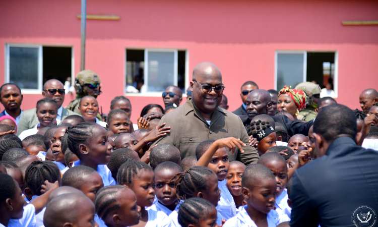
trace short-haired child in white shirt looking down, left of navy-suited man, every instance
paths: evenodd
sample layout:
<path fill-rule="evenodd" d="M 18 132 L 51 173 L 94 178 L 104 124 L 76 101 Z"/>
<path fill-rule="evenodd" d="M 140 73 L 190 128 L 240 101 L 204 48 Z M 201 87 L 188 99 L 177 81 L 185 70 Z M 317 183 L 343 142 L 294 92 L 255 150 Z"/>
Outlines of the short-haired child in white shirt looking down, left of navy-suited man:
<path fill-rule="evenodd" d="M 247 205 L 223 227 L 277 226 L 279 215 L 274 210 L 277 183 L 270 169 L 262 164 L 247 166 L 241 187 Z"/>

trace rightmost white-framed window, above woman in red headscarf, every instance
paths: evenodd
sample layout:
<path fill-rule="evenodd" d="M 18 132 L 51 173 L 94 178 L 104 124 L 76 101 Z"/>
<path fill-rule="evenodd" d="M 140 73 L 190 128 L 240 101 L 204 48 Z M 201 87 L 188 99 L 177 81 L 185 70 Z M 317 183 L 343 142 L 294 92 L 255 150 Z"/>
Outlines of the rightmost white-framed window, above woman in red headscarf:
<path fill-rule="evenodd" d="M 338 95 L 338 51 L 277 50 L 275 53 L 275 89 L 285 85 L 316 82 L 322 88 L 332 85 Z"/>

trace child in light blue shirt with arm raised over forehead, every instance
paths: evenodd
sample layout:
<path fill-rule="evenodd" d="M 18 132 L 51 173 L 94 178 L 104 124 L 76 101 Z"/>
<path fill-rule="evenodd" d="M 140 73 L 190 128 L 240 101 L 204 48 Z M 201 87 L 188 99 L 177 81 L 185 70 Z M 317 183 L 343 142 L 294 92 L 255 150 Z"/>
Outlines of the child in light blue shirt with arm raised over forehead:
<path fill-rule="evenodd" d="M 224 180 L 230 167 L 225 147 L 233 148 L 233 150 L 237 147 L 243 152 L 241 146 L 245 146 L 241 140 L 228 137 L 217 141 L 205 140 L 196 148 L 197 166 L 207 166 L 217 175 L 218 187 L 222 191 L 217 210 L 224 219 L 229 219 L 236 215 L 234 199 L 226 186 L 227 181 Z"/>

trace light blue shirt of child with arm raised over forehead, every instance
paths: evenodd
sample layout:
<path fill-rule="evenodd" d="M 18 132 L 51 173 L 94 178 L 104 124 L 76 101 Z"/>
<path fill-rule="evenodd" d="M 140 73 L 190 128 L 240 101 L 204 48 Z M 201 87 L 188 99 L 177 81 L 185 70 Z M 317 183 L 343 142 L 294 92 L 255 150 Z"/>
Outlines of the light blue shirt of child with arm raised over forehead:
<path fill-rule="evenodd" d="M 221 197 L 218 202 L 217 211 L 226 220 L 231 217 L 236 216 L 236 205 L 234 198 L 232 197 L 230 191 L 228 191 L 227 181 L 218 181 L 218 188 L 221 190 Z"/>

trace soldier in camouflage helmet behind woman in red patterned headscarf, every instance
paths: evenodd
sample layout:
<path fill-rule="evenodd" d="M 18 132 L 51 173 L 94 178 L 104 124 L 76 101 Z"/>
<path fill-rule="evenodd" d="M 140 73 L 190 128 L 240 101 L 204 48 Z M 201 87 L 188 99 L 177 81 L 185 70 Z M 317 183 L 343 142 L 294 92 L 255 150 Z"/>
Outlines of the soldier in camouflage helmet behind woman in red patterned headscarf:
<path fill-rule="evenodd" d="M 320 99 L 322 89 L 318 84 L 311 82 L 300 83 L 295 86 L 295 89 L 303 90 L 307 95 L 306 107 L 299 111 L 297 119 L 305 122 L 315 119 L 318 116 L 315 109 L 318 107 L 318 100 Z"/>

